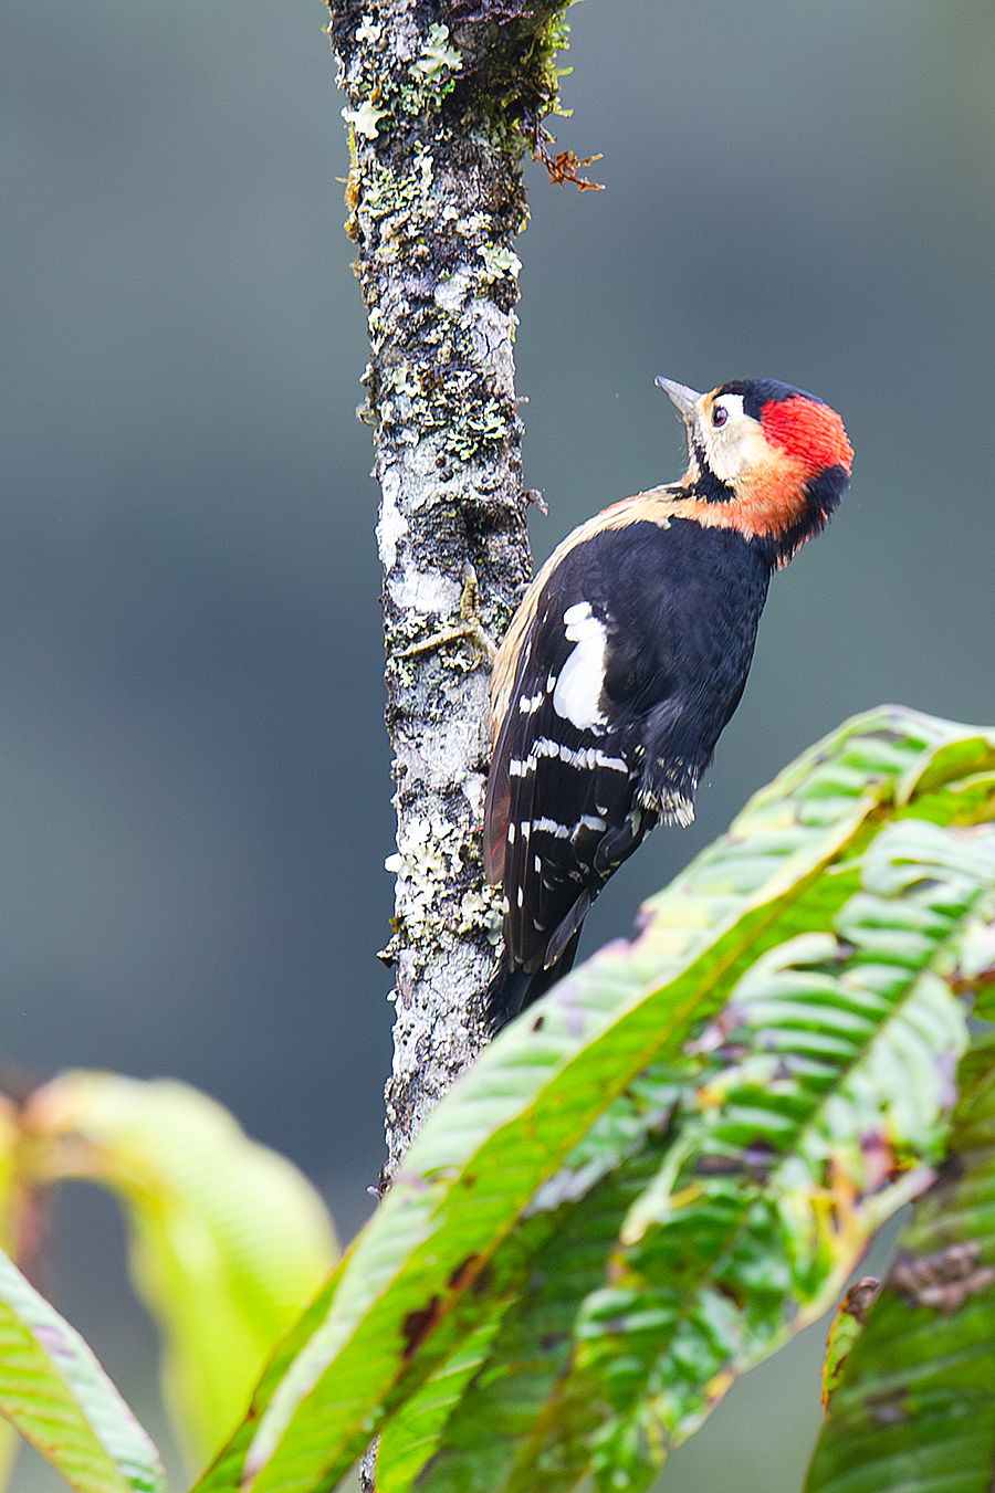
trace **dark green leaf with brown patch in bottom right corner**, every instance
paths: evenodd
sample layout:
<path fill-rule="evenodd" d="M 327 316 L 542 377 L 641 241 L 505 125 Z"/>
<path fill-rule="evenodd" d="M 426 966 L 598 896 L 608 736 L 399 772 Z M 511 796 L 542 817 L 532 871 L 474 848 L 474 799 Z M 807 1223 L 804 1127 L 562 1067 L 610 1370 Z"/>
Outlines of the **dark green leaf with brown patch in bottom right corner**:
<path fill-rule="evenodd" d="M 995 1465 L 995 1036 L 961 1063 L 947 1159 L 832 1394 L 807 1493 L 989 1493 Z"/>

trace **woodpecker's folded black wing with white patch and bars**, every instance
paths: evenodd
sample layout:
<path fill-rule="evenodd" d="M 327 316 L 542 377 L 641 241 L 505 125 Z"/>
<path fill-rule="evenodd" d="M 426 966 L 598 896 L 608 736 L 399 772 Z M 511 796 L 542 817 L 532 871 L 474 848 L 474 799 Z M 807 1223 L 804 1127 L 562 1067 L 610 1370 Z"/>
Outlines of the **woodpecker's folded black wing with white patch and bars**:
<path fill-rule="evenodd" d="M 499 726 L 486 818 L 489 873 L 505 888 L 508 954 L 526 973 L 560 959 L 653 823 L 633 802 L 638 754 L 608 727 L 611 620 L 562 591 L 542 600 Z"/>

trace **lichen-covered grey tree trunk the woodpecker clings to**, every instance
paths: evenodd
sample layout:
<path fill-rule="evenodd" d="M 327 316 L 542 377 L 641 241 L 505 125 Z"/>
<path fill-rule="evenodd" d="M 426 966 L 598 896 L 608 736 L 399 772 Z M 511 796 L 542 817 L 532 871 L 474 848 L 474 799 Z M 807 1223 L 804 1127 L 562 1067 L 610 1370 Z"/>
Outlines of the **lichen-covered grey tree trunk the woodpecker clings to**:
<path fill-rule="evenodd" d="M 489 666 L 529 578 L 514 388 L 521 160 L 556 109 L 566 4 L 329 0 L 381 485 L 397 875 L 393 1176 L 486 1041 L 499 942 L 480 861 Z M 478 599 L 478 618 L 468 600 Z"/>

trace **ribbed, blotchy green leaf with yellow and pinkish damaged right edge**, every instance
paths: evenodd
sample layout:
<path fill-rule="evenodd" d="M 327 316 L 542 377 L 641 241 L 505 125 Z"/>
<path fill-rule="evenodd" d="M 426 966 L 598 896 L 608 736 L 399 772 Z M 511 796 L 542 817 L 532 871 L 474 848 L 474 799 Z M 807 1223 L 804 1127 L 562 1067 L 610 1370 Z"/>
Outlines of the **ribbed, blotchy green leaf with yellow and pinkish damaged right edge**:
<path fill-rule="evenodd" d="M 520 1417 L 514 1472 L 478 1475 L 493 1454 L 471 1390 L 426 1489 L 450 1444 L 469 1448 L 454 1487 L 526 1490 L 541 1469 L 551 1493 L 592 1466 L 605 1489 L 647 1486 L 737 1372 L 825 1309 L 922 1185 L 967 1041 L 959 1002 L 925 966 L 991 899 L 995 838 L 905 821 L 861 872 L 835 917 L 846 942 L 808 933 L 760 957 L 687 1050 L 698 1075 L 686 1062 L 669 1154 L 607 1251 L 611 1285 L 577 1315 L 569 1371 L 530 1426 Z M 896 1171 L 908 1175 L 889 1184 Z M 509 1383 L 518 1366 L 503 1365 Z M 480 1381 L 496 1374 L 492 1357 Z"/>

